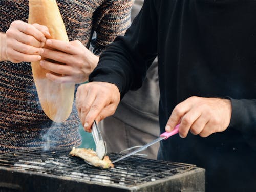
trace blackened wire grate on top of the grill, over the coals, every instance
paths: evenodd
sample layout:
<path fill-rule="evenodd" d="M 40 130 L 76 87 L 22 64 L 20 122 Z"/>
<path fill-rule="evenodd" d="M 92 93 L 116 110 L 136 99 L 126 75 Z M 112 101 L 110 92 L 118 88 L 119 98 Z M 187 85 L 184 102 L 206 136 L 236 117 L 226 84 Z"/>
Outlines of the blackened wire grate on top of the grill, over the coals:
<path fill-rule="evenodd" d="M 66 176 L 126 187 L 160 180 L 188 172 L 196 167 L 190 164 L 130 156 L 115 163 L 114 168 L 100 169 L 85 163 L 78 157 L 68 155 L 69 152 L 70 150 L 65 148 L 52 148 L 47 151 L 42 148 L 33 148 L 7 153 L 0 155 L 0 167 L 47 174 L 49 177 Z M 111 160 L 115 160 L 122 154 L 109 153 L 108 156 Z"/>

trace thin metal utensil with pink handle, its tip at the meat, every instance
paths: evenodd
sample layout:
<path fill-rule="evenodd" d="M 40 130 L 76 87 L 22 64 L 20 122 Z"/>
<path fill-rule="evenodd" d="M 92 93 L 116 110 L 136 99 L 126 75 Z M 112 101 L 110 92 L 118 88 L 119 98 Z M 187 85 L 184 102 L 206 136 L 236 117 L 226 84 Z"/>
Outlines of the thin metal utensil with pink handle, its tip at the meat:
<path fill-rule="evenodd" d="M 173 136 L 173 135 L 179 133 L 179 127 L 180 127 L 180 124 L 176 125 L 173 131 L 162 133 L 162 134 L 160 135 L 160 137 L 158 137 L 158 138 L 155 139 L 154 141 L 152 141 L 152 142 L 150 142 L 150 143 L 148 143 L 148 144 L 146 144 L 146 145 L 144 145 L 144 146 L 138 148 L 137 150 L 134 150 L 133 152 L 131 152 L 131 153 L 129 153 L 129 154 L 126 154 L 126 155 L 124 155 L 124 156 L 122 156 L 122 157 L 120 157 L 120 158 L 118 158 L 118 159 L 112 161 L 112 163 L 116 163 L 116 162 L 118 162 L 118 161 L 120 161 L 120 160 L 122 160 L 122 159 L 124 159 L 124 158 L 126 158 L 126 157 L 129 157 L 129 156 L 131 156 L 131 155 L 133 155 L 133 154 L 135 154 L 135 153 L 138 153 L 138 152 L 140 152 L 140 151 L 143 151 L 143 150 L 145 150 L 147 147 L 149 147 L 149 146 L 151 146 L 151 145 L 153 145 L 153 144 L 155 144 L 155 143 L 157 143 L 157 142 L 159 142 L 159 141 L 161 141 L 161 140 L 168 139 L 170 136 Z"/>

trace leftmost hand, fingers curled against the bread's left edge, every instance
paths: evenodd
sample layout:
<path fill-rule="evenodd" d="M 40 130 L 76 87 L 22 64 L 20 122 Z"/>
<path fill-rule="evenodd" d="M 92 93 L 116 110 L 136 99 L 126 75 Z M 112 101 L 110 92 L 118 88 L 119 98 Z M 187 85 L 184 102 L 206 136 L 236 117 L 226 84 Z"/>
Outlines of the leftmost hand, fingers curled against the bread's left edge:
<path fill-rule="evenodd" d="M 1 60 L 13 63 L 38 61 L 46 38 L 49 37 L 46 26 L 16 20 L 5 34 L 1 34 Z"/>

